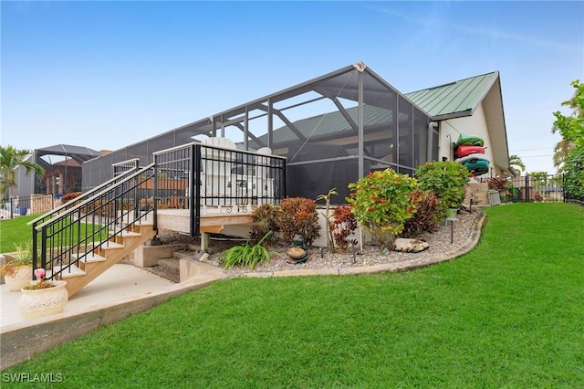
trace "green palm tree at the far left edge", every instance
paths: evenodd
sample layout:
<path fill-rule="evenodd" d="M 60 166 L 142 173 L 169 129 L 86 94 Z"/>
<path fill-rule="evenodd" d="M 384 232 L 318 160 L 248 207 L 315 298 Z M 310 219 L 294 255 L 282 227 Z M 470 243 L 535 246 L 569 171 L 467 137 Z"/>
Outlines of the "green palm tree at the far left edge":
<path fill-rule="evenodd" d="M 26 160 L 30 153 L 29 150 L 17 150 L 11 145 L 0 145 L 0 195 L 10 197 L 10 189 L 17 187 L 17 167 L 24 167 L 26 175 L 33 172 L 38 174 L 44 172 L 40 165 Z"/>

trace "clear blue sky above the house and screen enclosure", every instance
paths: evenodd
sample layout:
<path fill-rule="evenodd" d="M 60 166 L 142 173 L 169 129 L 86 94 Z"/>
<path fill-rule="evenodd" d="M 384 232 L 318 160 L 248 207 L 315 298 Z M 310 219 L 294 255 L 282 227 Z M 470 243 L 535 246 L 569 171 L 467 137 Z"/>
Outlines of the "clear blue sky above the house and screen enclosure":
<path fill-rule="evenodd" d="M 0 6 L 17 148 L 116 150 L 363 61 L 401 92 L 499 70 L 510 152 L 553 173 L 551 112 L 584 79 L 584 2 Z"/>

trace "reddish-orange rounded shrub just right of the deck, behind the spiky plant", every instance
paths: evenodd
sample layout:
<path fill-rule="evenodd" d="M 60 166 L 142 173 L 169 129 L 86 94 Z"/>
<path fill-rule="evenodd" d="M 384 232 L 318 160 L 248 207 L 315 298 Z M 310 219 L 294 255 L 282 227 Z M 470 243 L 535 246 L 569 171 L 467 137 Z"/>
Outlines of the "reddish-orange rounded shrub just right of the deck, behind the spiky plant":
<path fill-rule="evenodd" d="M 294 241 L 296 235 L 301 235 L 308 246 L 320 236 L 317 203 L 314 200 L 287 197 L 276 209 L 276 216 L 276 224 L 287 245 Z"/>

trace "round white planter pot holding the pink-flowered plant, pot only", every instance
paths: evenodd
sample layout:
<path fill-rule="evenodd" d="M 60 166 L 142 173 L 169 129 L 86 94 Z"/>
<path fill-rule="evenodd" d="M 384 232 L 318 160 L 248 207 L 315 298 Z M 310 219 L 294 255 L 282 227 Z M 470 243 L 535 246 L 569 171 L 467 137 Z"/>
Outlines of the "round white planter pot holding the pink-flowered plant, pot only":
<path fill-rule="evenodd" d="M 35 290 L 21 289 L 22 296 L 18 301 L 18 308 L 23 318 L 26 320 L 36 319 L 60 313 L 65 309 L 69 299 L 68 291 L 65 289 L 67 281 L 50 282 L 55 284 L 55 287 Z"/>

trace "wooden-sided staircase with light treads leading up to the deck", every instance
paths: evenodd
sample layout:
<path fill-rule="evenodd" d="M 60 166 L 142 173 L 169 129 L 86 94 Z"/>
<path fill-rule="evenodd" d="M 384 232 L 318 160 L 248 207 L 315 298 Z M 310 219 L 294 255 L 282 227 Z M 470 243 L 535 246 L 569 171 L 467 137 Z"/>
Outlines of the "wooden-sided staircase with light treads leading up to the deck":
<path fill-rule="evenodd" d="M 124 230 L 120 235 L 110 237 L 107 243 L 101 247 L 86 247 L 88 250 L 84 255 L 72 255 L 72 259 L 80 258 L 78 266 L 71 266 L 63 273 L 57 275 L 56 279 L 67 281 L 69 297 L 75 295 L 79 289 L 89 282 L 99 277 L 101 273 L 126 258 L 132 251 L 144 244 L 148 239 L 156 235 L 151 223 L 142 222 L 132 224 L 128 230 Z M 52 271 L 60 270 L 54 267 Z M 47 271 L 47 276 L 51 276 L 52 271 Z"/>

